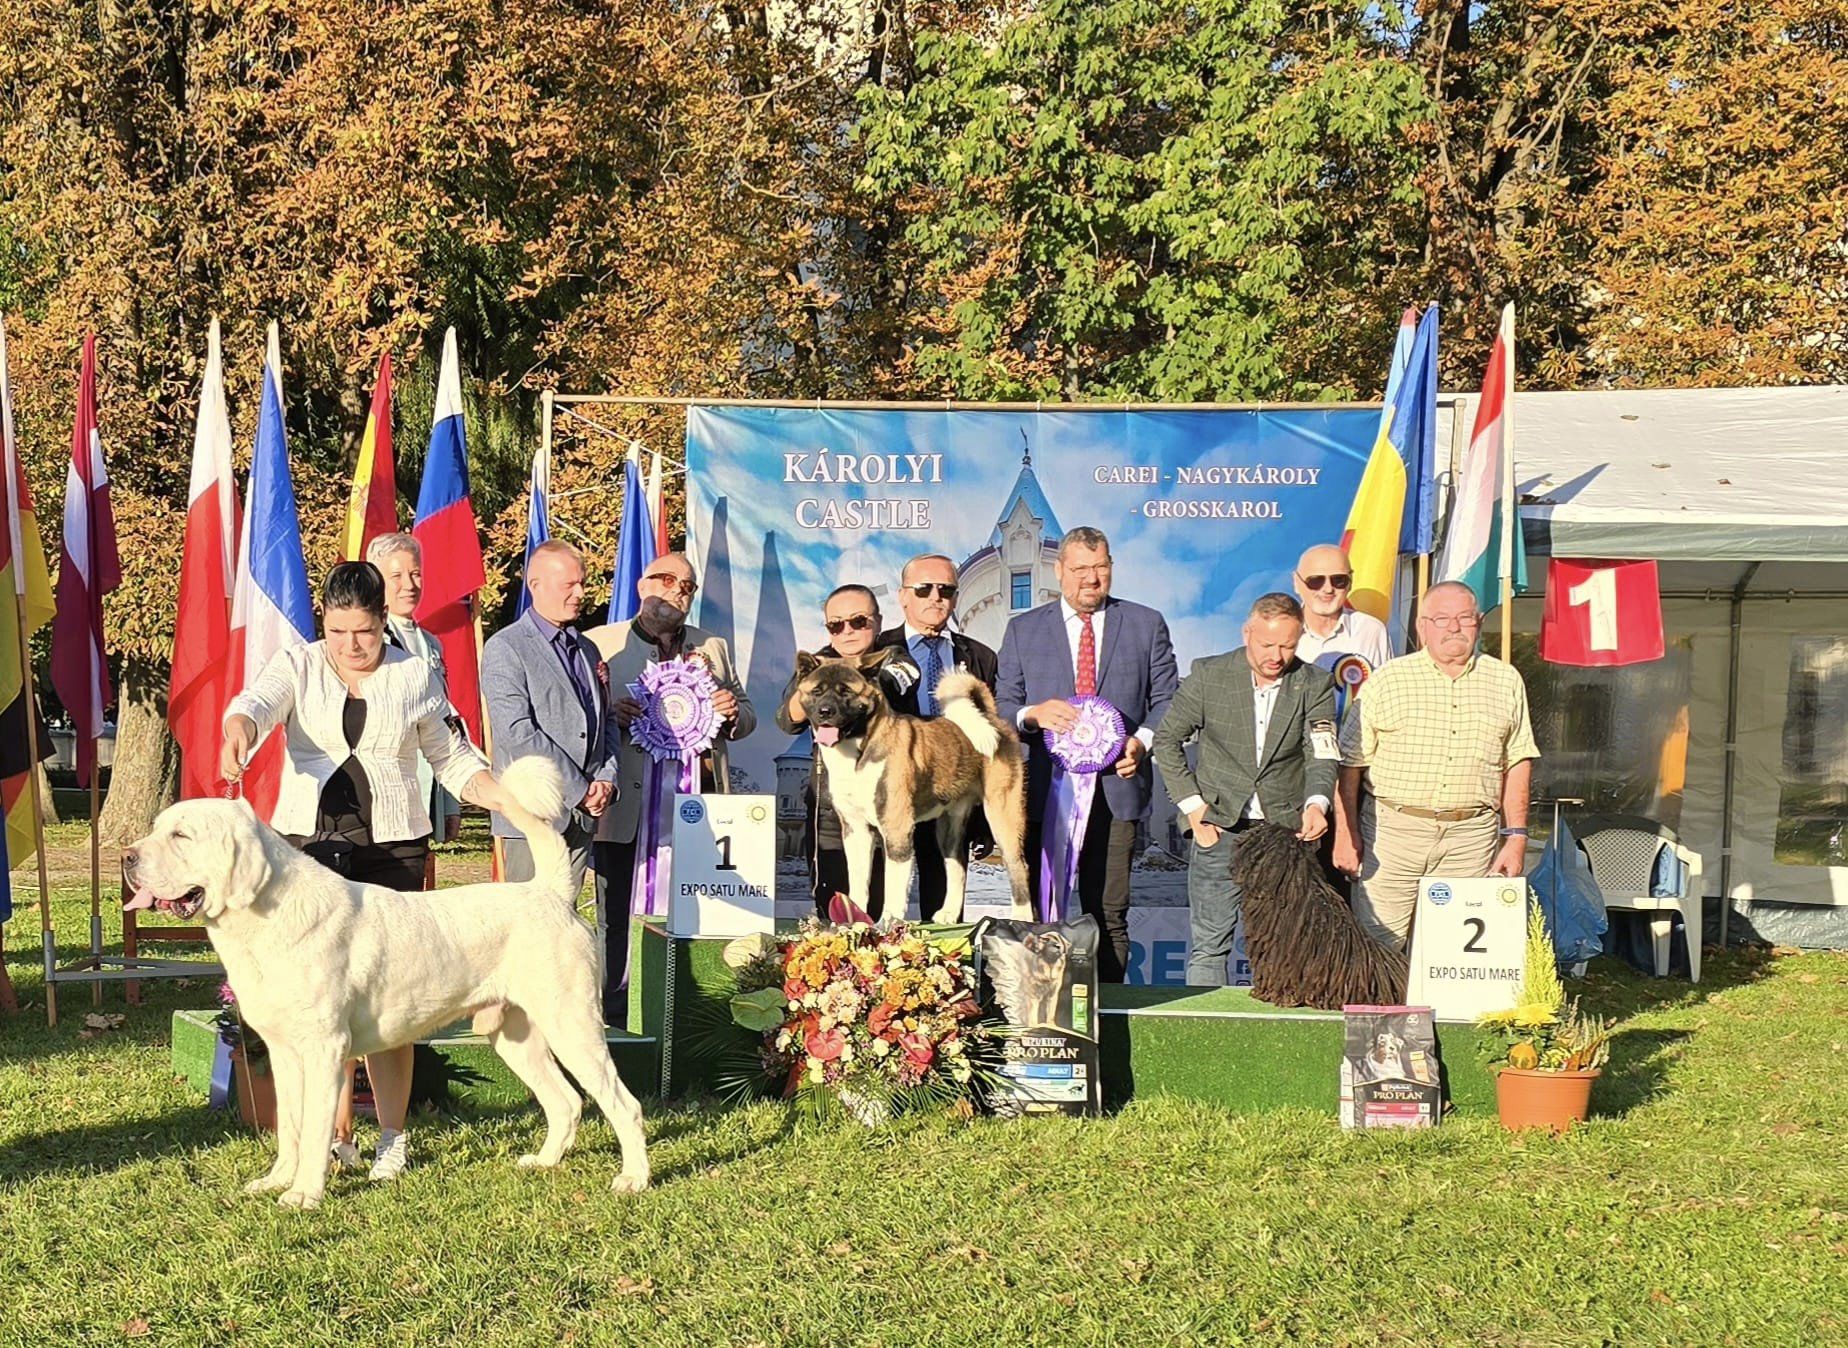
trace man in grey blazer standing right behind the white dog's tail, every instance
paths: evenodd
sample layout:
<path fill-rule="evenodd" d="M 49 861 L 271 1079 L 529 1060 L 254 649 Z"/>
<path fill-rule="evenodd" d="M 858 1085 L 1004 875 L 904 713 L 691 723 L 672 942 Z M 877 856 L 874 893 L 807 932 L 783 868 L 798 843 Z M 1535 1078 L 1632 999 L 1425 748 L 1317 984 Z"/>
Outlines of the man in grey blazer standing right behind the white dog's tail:
<path fill-rule="evenodd" d="M 564 773 L 565 799 L 577 803 L 565 823 L 575 893 L 590 865 L 595 819 L 615 795 L 621 732 L 597 647 L 569 627 L 584 607 L 584 558 L 571 544 L 540 544 L 527 562 L 527 590 L 532 607 L 480 651 L 493 771 L 538 754 Z M 505 878 L 530 880 L 525 836 L 503 814 L 493 815 L 493 836 Z"/>

